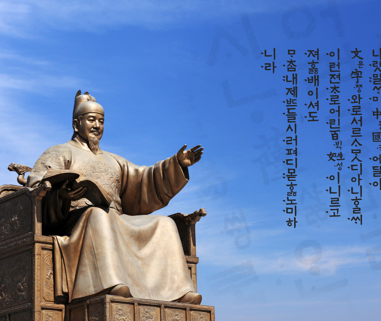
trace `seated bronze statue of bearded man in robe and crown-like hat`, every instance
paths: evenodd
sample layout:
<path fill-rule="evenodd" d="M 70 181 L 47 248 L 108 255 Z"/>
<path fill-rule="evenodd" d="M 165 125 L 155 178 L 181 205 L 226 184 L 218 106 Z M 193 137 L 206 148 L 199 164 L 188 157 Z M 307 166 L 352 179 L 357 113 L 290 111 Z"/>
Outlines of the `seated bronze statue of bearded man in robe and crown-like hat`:
<path fill-rule="evenodd" d="M 174 221 L 147 215 L 165 207 L 188 182 L 200 145 L 152 166 L 138 166 L 99 149 L 104 110 L 87 92 L 75 97 L 72 139 L 47 149 L 28 176 L 35 187 L 48 170 L 76 170 L 104 188 L 109 206 L 86 199 L 87 187 L 52 184 L 43 199 L 44 234 L 53 236 L 54 295 L 95 294 L 200 304 Z"/>

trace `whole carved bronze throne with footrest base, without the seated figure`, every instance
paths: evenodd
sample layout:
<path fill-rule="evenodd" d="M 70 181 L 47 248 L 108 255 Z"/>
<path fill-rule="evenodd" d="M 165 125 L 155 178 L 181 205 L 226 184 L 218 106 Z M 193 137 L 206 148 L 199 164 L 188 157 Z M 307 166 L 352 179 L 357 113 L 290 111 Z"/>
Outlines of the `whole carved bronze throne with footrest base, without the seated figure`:
<path fill-rule="evenodd" d="M 46 186 L 0 186 L 0 321 L 214 321 L 214 308 L 100 296 L 65 305 L 54 299 L 53 240 L 42 235 Z M 195 223 L 203 209 L 170 217 L 178 226 L 197 291 Z"/>

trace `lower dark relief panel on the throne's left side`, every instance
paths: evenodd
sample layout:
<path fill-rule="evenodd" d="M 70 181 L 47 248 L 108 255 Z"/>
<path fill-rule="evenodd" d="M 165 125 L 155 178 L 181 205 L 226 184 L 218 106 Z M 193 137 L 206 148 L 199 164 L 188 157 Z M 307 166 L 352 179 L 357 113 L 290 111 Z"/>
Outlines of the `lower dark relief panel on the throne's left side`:
<path fill-rule="evenodd" d="M 30 252 L 0 261 L 0 308 L 30 301 Z"/>

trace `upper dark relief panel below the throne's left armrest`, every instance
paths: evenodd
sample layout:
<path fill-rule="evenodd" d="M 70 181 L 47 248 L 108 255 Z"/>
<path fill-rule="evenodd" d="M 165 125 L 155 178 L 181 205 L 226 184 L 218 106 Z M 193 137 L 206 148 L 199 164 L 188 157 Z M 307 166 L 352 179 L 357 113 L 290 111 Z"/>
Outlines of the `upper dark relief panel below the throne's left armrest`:
<path fill-rule="evenodd" d="M 31 208 L 32 201 L 27 195 L 0 204 L 0 241 L 30 231 Z"/>

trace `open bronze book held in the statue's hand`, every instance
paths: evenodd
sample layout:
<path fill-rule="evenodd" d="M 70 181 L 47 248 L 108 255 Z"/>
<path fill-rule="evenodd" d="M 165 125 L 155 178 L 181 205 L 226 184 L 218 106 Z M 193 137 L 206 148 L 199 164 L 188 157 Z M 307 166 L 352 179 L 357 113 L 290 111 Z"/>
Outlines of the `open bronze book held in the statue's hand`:
<path fill-rule="evenodd" d="M 88 199 L 94 205 L 104 205 L 109 206 L 113 195 L 106 191 L 99 183 L 97 183 L 93 178 L 84 176 L 81 172 L 70 169 L 55 169 L 50 168 L 44 177 L 42 178 L 41 183 L 49 181 L 51 184 L 63 183 L 64 181 L 69 180 L 67 184 L 71 188 L 78 188 L 85 186 L 87 191 L 84 198 Z"/>

